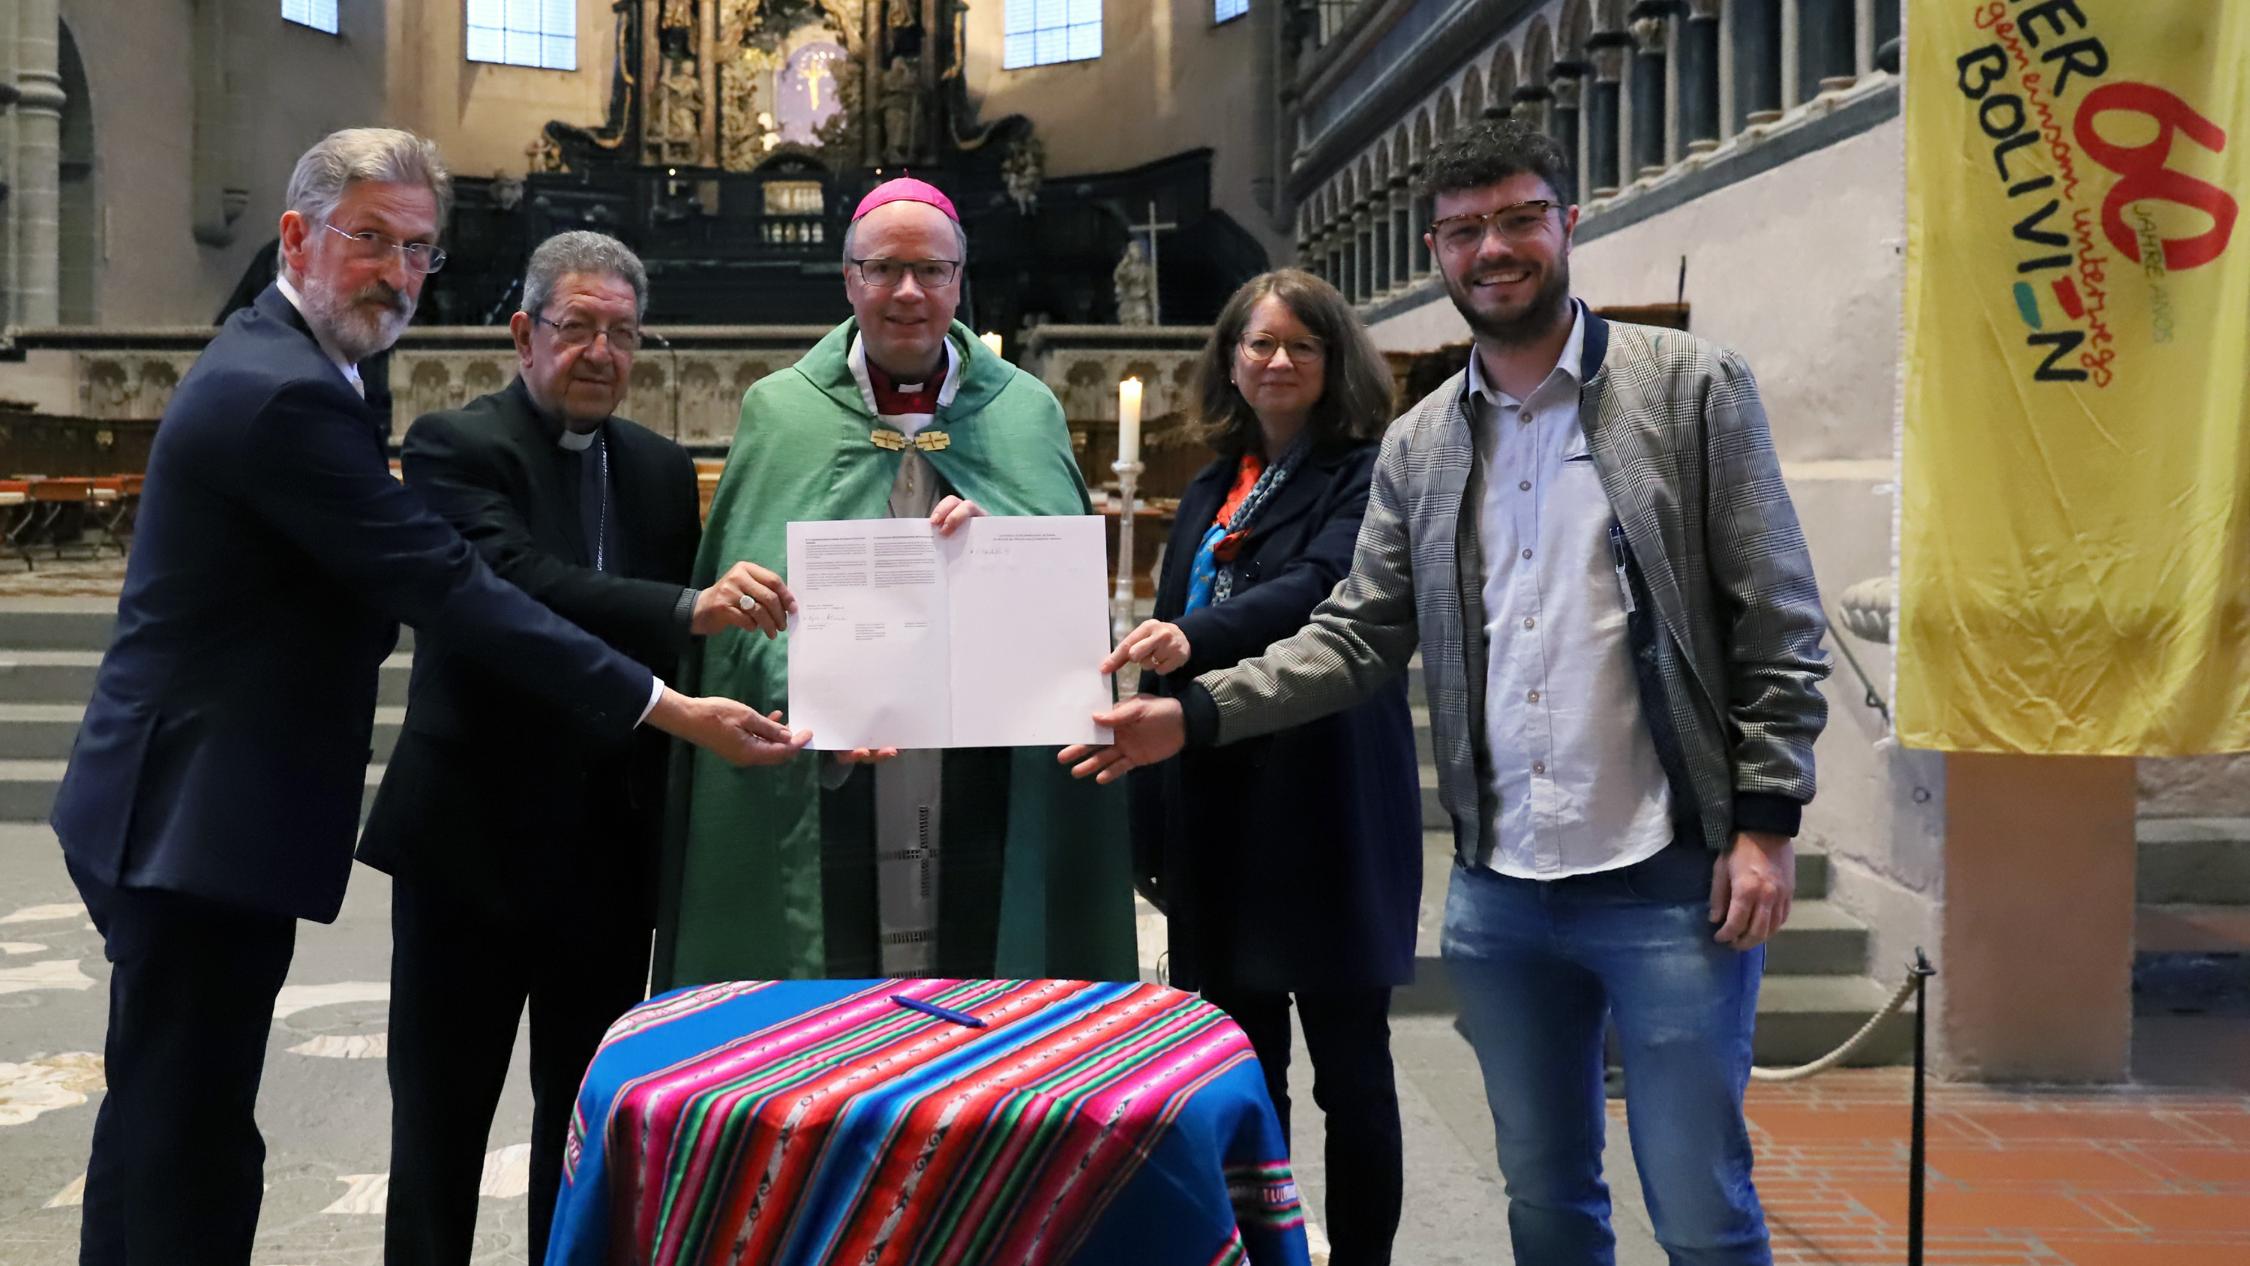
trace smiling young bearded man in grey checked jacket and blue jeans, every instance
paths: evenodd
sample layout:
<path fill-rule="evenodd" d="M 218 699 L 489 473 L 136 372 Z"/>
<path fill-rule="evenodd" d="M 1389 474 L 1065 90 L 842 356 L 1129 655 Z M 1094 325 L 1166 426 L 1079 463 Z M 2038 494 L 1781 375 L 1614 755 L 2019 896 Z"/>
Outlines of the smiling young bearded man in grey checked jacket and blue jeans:
<path fill-rule="evenodd" d="M 1442 951 L 1516 1262 L 1606 1266 L 1602 1030 L 1674 1264 L 1766 1264 L 1742 1093 L 1827 722 L 1825 623 L 1748 367 L 1570 299 L 1562 148 L 1478 124 L 1424 169 L 1469 367 L 1384 436 L 1352 573 L 1264 657 L 1100 717 L 1118 778 L 1429 681 Z"/>

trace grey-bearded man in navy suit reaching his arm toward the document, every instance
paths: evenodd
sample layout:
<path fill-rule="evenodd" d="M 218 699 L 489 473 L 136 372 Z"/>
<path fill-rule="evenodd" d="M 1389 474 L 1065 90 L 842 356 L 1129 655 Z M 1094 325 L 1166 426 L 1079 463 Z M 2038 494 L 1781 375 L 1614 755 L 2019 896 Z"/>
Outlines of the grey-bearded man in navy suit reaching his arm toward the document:
<path fill-rule="evenodd" d="M 392 479 L 356 364 L 443 263 L 446 196 L 436 148 L 410 133 L 306 151 L 279 279 L 158 427 L 117 634 L 54 803 L 115 965 L 83 1264 L 250 1262 L 274 994 L 295 920 L 328 922 L 344 899 L 398 621 L 551 699 L 542 724 L 623 738 L 646 722 L 736 762 L 803 742 L 578 632 Z"/>

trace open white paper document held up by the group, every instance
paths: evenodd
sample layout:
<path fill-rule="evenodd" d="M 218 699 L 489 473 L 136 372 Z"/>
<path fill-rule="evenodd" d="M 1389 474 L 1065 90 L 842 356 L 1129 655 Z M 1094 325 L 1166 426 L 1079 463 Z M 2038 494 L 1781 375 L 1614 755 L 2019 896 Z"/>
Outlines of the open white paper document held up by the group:
<path fill-rule="evenodd" d="M 812 747 L 1109 742 L 1102 519 L 790 524 L 790 726 Z"/>

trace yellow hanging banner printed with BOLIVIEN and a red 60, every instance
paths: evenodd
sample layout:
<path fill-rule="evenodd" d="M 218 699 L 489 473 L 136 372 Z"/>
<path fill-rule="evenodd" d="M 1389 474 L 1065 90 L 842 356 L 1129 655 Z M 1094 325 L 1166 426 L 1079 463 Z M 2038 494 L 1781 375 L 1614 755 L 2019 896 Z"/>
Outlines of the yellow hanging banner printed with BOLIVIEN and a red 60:
<path fill-rule="evenodd" d="M 2250 749 L 2250 2 L 1908 16 L 1899 738 Z"/>

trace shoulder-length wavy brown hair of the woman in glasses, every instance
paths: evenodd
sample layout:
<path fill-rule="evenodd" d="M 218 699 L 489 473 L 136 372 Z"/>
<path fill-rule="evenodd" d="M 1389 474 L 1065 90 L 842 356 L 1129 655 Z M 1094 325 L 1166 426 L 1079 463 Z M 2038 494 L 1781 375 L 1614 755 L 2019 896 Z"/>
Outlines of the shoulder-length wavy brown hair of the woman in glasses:
<path fill-rule="evenodd" d="M 1375 340 L 1359 324 L 1352 304 L 1334 286 L 1300 268 L 1278 268 L 1260 272 L 1235 290 L 1220 319 L 1210 326 L 1210 340 L 1195 362 L 1195 400 L 1204 432 L 1204 443 L 1220 456 L 1242 456 L 1264 443 L 1258 429 L 1258 414 L 1251 403 L 1235 391 L 1235 346 L 1251 324 L 1251 310 L 1260 299 L 1280 299 L 1321 346 L 1321 398 L 1305 418 L 1305 434 L 1314 447 L 1339 443 L 1366 443 L 1384 434 L 1390 425 L 1390 364 L 1375 351 Z M 1274 456 L 1274 454 L 1267 454 Z"/>

